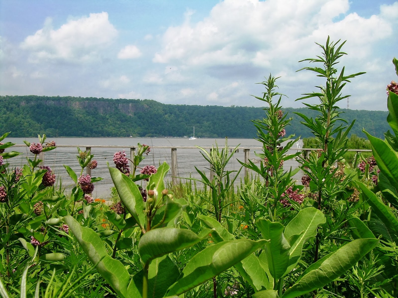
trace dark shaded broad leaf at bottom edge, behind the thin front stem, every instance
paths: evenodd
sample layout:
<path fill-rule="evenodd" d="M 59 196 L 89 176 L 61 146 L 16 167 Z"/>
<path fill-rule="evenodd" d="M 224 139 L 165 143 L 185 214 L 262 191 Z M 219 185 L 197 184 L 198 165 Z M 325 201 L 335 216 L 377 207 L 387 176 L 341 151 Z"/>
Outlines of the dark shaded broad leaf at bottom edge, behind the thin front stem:
<path fill-rule="evenodd" d="M 143 271 L 133 277 L 133 281 L 142 295 Z M 154 259 L 148 269 L 148 298 L 162 298 L 169 286 L 179 277 L 178 267 L 168 255 Z"/>

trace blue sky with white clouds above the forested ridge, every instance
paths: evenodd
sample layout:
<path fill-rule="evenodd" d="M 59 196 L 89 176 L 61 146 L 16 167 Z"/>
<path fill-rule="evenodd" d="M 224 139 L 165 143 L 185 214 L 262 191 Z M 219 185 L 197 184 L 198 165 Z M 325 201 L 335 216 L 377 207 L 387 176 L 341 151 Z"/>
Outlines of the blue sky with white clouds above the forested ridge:
<path fill-rule="evenodd" d="M 392 0 L 0 0 L 0 95 L 261 106 L 250 95 L 271 73 L 283 106 L 301 107 L 322 80 L 298 61 L 330 35 L 347 40 L 346 74 L 367 72 L 349 107 L 386 110 L 396 28 Z"/>

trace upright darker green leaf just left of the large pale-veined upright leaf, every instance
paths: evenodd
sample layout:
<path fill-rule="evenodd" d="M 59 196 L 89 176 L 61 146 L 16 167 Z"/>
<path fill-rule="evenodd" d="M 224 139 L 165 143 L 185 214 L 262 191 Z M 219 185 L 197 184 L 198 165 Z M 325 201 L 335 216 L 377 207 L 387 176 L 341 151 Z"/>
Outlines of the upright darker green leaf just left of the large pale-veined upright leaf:
<path fill-rule="evenodd" d="M 256 222 L 264 239 L 265 251 L 268 258 L 268 267 L 272 277 L 277 280 L 283 277 L 289 264 L 290 245 L 283 236 L 283 224 L 271 222 L 268 219 L 260 219 Z"/>

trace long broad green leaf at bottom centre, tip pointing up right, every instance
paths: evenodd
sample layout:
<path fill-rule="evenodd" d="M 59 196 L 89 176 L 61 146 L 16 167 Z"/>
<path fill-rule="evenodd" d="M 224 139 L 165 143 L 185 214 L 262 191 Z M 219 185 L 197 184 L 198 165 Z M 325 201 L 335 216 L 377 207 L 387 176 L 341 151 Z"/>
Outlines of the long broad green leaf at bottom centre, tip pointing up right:
<path fill-rule="evenodd" d="M 266 240 L 238 239 L 208 246 L 187 263 L 181 276 L 167 291 L 180 295 L 219 275 L 263 246 Z"/>

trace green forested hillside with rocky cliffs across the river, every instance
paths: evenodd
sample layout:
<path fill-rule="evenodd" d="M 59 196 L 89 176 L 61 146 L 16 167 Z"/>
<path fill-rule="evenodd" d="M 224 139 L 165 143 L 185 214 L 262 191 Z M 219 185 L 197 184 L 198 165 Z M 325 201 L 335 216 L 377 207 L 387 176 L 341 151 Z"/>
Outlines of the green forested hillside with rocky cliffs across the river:
<path fill-rule="evenodd" d="M 300 124 L 300 112 L 315 117 L 308 108 L 284 108 L 293 117 L 287 134 L 311 136 Z M 388 130 L 388 112 L 345 110 L 342 118 L 356 119 L 351 134 L 364 137 L 362 128 L 382 137 Z M 195 126 L 197 137 L 256 136 L 250 120 L 263 118 L 262 108 L 162 104 L 153 100 L 82 97 L 1 96 L 0 134 L 12 137 L 183 137 Z"/>

